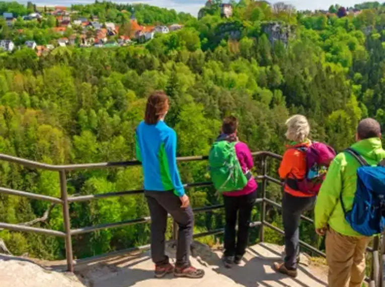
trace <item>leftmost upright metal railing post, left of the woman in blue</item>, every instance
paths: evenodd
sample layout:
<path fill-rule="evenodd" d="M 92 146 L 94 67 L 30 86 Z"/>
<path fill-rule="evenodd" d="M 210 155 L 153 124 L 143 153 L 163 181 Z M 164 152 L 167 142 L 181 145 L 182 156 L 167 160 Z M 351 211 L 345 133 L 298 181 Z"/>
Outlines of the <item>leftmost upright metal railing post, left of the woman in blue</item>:
<path fill-rule="evenodd" d="M 73 272 L 73 255 L 72 255 L 72 240 L 71 240 L 71 224 L 69 219 L 69 204 L 67 193 L 67 180 L 65 171 L 59 171 L 60 176 L 60 193 L 63 200 L 63 219 L 65 232 L 65 258 L 67 259 L 67 268 L 69 272 Z"/>

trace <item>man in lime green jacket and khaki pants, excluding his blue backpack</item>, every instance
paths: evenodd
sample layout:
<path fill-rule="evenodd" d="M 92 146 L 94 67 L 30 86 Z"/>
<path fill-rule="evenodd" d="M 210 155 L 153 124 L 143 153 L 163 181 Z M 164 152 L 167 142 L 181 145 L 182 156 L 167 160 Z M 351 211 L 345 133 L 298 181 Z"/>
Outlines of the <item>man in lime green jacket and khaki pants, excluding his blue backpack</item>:
<path fill-rule="evenodd" d="M 351 146 L 371 165 L 385 158 L 381 128 L 372 119 L 357 127 L 357 142 Z M 358 161 L 346 152 L 340 153 L 329 167 L 315 208 L 315 226 L 319 235 L 326 234 L 326 259 L 329 265 L 329 287 L 361 287 L 365 278 L 365 250 L 371 237 L 355 232 L 345 220 L 340 194 L 347 210 L 356 192 Z"/>

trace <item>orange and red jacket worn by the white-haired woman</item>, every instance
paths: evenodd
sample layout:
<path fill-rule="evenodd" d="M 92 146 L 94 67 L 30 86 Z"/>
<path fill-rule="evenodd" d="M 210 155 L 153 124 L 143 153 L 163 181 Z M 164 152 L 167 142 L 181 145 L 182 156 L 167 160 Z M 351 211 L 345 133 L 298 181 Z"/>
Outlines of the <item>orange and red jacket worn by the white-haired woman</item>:
<path fill-rule="evenodd" d="M 306 155 L 304 152 L 298 151 L 295 148 L 310 147 L 312 142 L 306 141 L 296 145 L 286 146 L 286 152 L 283 154 L 281 165 L 278 169 L 279 177 L 283 180 L 287 178 L 303 179 L 306 175 Z M 286 183 L 283 190 L 293 196 L 297 197 L 310 197 L 313 194 L 305 194 L 299 190 L 290 188 Z"/>

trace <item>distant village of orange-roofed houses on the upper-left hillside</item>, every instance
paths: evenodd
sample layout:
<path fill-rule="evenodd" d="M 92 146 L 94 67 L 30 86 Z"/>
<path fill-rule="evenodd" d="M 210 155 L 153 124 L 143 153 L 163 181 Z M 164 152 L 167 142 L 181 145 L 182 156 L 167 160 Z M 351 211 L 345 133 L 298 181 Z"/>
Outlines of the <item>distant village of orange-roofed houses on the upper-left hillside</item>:
<path fill-rule="evenodd" d="M 68 10 L 66 7 L 56 6 L 51 12 L 45 12 L 44 14 L 34 12 L 21 17 L 25 21 L 40 21 L 46 16 L 54 16 L 56 19 L 56 27 L 51 28 L 52 32 L 61 35 L 61 38 L 54 41 L 56 47 L 73 46 L 76 44 L 80 47 L 127 46 L 132 44 L 133 38 L 142 43 L 153 39 L 156 34 L 167 34 L 183 28 L 182 25 L 177 23 L 170 26 L 142 26 L 137 23 L 135 15 L 132 14 L 130 17 L 129 31 L 125 30 L 122 32 L 123 34 L 119 34 L 121 27 L 116 23 L 101 23 L 99 22 L 99 18 L 95 15 L 87 18 L 83 16 L 76 17 L 75 14 L 75 12 Z M 16 21 L 14 14 L 10 12 L 3 13 L 3 18 L 6 20 L 8 26 L 13 26 Z M 76 32 L 73 35 L 68 36 L 67 31 L 72 27 L 76 28 L 74 29 Z M 83 29 L 80 29 L 80 27 L 83 27 Z M 24 29 L 19 29 L 17 32 L 23 34 Z M 64 35 L 66 35 L 66 37 L 64 37 Z M 53 50 L 55 48 L 54 45 L 39 45 L 39 43 L 36 43 L 33 40 L 24 43 L 24 46 L 36 50 L 38 56 L 42 56 Z M 0 40 L 0 47 L 7 52 L 12 52 L 16 48 L 12 40 Z"/>

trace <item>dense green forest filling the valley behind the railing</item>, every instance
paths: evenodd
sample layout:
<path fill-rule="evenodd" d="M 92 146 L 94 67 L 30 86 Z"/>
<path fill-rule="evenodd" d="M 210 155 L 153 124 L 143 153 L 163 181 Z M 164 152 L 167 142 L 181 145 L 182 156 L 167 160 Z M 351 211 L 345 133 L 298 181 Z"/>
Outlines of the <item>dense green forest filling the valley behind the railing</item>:
<path fill-rule="evenodd" d="M 28 48 L 0 54 L 0 152 L 48 164 L 135 160 L 134 130 L 154 90 L 165 90 L 171 98 L 166 122 L 177 131 L 179 156 L 207 155 L 221 119 L 230 114 L 239 117 L 240 139 L 252 151 L 277 154 L 285 150 L 284 123 L 294 113 L 309 117 L 312 139 L 337 151 L 354 141 L 361 118 L 374 117 L 385 127 L 384 7 L 365 4 L 360 13 L 337 15 L 241 0 L 225 19 L 221 2 L 212 3 L 199 20 L 140 6 L 138 22 L 184 25 L 144 45 L 59 47 L 41 57 Z M 8 9 L 3 6 L 0 10 Z M 127 7 L 98 2 L 74 9 L 87 14 Z M 4 33 L 10 31 L 3 25 L 3 38 Z M 277 165 L 269 161 L 271 176 L 276 177 Z M 182 163 L 180 170 L 185 183 L 209 180 L 205 162 Z M 70 196 L 142 187 L 140 167 L 69 172 L 67 177 Z M 0 162 L 0 186 L 60 196 L 57 173 L 5 162 Z M 194 207 L 220 203 L 214 193 L 209 187 L 188 190 Z M 279 201 L 280 188 L 268 185 L 268 197 Z M 33 226 L 62 231 L 60 206 L 0 195 L 0 222 L 29 223 L 47 210 L 47 219 Z M 254 210 L 255 220 L 259 212 Z M 73 229 L 147 215 L 143 195 L 70 205 Z M 280 213 L 272 207 L 267 219 L 281 226 Z M 199 213 L 195 232 L 221 228 L 223 220 L 222 211 Z M 0 230 L 0 238 L 15 255 L 65 256 L 60 238 L 6 230 Z M 257 238 L 253 229 L 251 242 Z M 301 226 L 301 238 L 321 245 L 310 224 Z M 200 240 L 214 245 L 221 237 Z M 282 243 L 268 230 L 266 240 Z M 137 224 L 75 236 L 73 248 L 76 258 L 84 258 L 148 242 L 149 226 Z"/>

